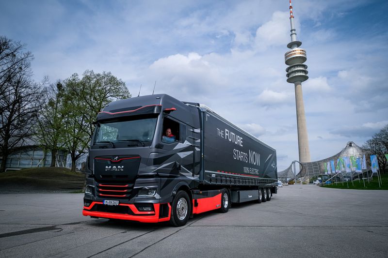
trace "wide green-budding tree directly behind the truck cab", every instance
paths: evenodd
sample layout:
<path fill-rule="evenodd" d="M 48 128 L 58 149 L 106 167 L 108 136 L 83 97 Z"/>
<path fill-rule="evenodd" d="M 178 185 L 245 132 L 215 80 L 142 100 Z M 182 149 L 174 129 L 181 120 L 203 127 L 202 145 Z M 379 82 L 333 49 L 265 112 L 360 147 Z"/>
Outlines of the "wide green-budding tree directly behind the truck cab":
<path fill-rule="evenodd" d="M 73 74 L 65 80 L 68 115 L 65 146 L 72 159 L 75 171 L 76 160 L 85 153 L 93 136 L 93 121 L 108 103 L 129 98 L 125 83 L 110 72 L 95 73 L 86 70 L 82 78 Z"/>

